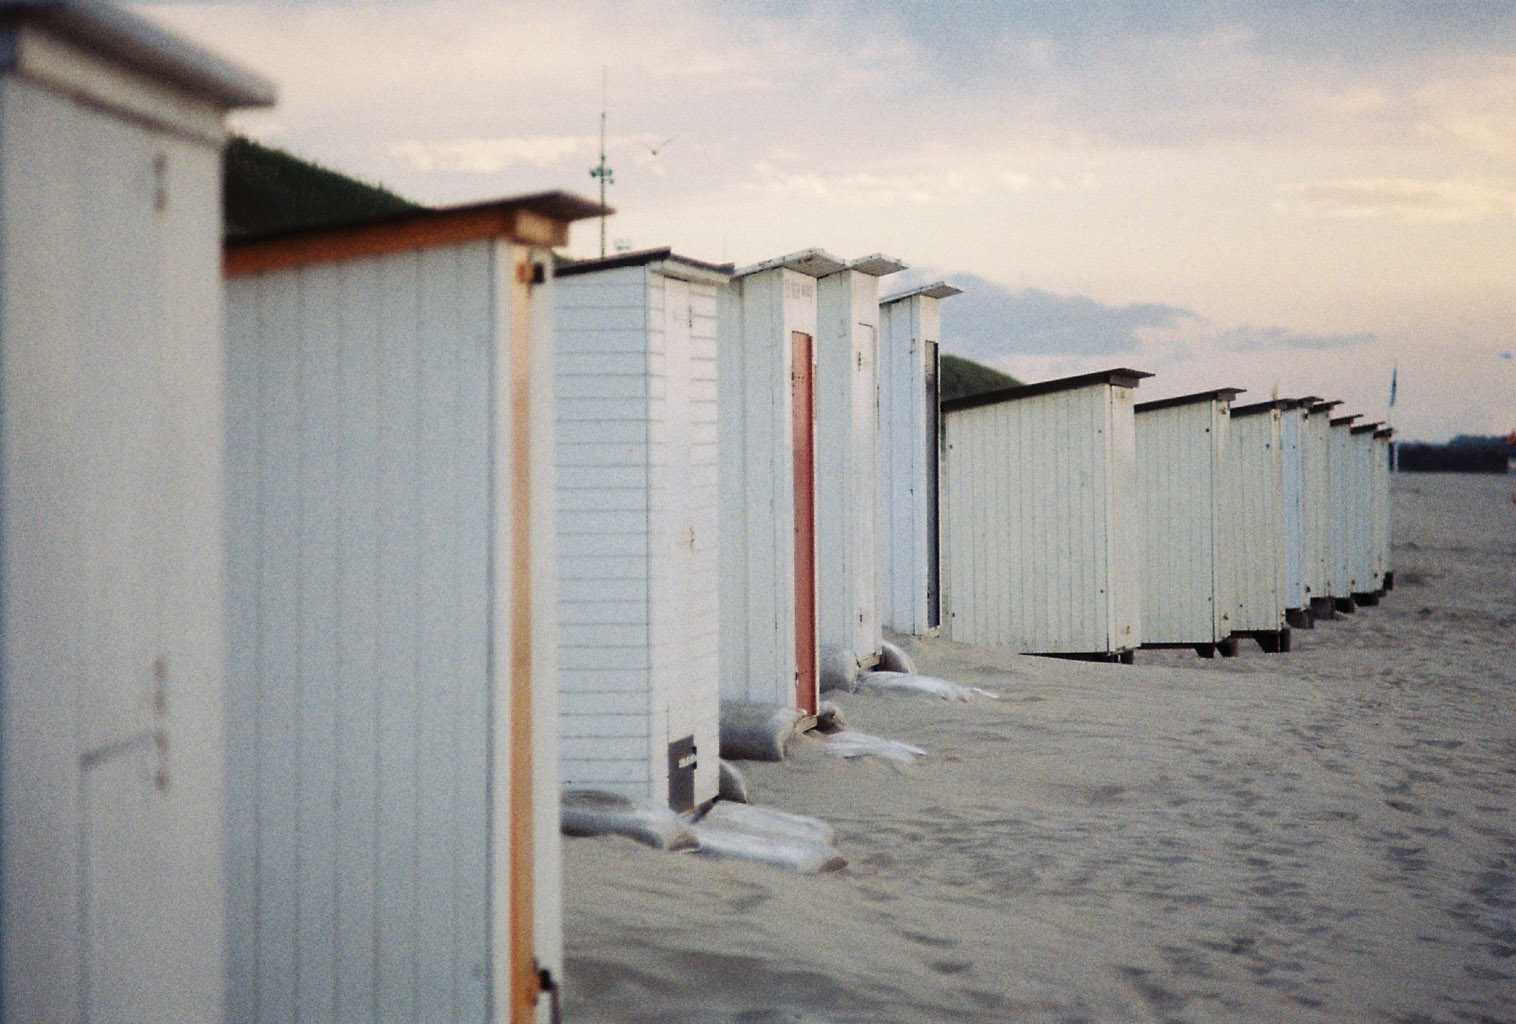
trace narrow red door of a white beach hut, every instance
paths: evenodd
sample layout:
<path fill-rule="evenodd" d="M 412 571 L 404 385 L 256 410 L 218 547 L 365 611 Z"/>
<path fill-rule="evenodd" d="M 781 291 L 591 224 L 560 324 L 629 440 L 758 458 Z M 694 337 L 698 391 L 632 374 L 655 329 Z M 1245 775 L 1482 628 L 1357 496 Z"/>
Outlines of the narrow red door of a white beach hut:
<path fill-rule="evenodd" d="M 811 335 L 790 334 L 794 437 L 794 705 L 816 715 L 816 399 Z"/>

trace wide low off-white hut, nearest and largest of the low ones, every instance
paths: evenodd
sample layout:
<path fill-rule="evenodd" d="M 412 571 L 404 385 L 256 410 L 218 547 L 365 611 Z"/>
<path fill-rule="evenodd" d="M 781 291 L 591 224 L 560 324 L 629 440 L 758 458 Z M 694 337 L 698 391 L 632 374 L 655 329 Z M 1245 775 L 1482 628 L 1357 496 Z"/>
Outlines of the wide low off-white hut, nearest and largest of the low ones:
<path fill-rule="evenodd" d="M 1132 391 L 1116 369 L 943 402 L 943 619 L 963 643 L 1131 661 Z"/>

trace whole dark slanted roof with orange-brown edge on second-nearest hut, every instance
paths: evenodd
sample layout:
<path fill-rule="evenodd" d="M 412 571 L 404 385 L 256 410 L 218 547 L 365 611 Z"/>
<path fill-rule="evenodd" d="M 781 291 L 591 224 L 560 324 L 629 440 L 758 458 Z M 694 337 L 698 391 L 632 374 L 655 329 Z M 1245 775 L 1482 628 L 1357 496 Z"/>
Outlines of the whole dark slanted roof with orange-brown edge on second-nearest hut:
<path fill-rule="evenodd" d="M 327 228 L 302 228 L 227 243 L 226 276 L 303 267 L 338 259 L 384 256 L 424 246 L 479 238 L 509 238 L 534 246 L 562 246 L 568 225 L 599 217 L 600 203 L 568 193 L 532 193 L 488 203 L 414 209 Z"/>

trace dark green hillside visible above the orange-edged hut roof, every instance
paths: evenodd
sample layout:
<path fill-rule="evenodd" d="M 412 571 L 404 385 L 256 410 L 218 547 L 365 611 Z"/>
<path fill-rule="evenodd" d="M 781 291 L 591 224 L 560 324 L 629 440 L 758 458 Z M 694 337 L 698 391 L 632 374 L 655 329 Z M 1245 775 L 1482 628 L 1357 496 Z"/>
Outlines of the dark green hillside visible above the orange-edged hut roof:
<path fill-rule="evenodd" d="M 227 238 L 346 225 L 420 208 L 388 188 L 241 135 L 226 144 L 221 182 Z"/>

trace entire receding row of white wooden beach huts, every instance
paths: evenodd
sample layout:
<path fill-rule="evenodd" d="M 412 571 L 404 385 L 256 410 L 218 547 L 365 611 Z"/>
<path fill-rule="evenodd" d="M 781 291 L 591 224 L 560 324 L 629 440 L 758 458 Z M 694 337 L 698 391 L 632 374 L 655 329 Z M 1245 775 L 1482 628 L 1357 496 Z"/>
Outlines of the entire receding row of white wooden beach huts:
<path fill-rule="evenodd" d="M 562 193 L 223 247 L 267 82 L 94 3 L 0 41 L 6 1021 L 549 1019 L 562 787 L 699 810 L 723 708 L 888 631 L 1286 651 L 1393 584 L 1334 402 L 940 404 L 952 285 L 561 262 Z"/>

